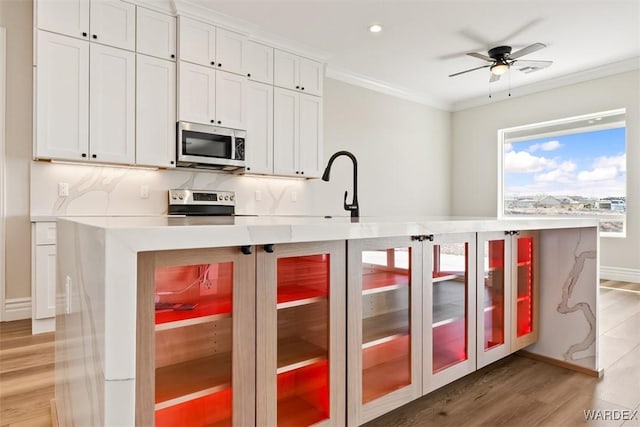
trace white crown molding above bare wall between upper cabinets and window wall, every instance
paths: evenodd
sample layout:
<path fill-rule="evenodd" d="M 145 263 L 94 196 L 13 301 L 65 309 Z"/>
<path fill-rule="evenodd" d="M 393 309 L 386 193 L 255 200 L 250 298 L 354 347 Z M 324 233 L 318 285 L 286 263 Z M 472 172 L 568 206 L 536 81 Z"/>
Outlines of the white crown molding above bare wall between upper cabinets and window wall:
<path fill-rule="evenodd" d="M 376 92 L 384 93 L 385 95 L 394 96 L 396 98 L 405 99 L 407 101 L 423 104 L 428 107 L 437 108 L 439 110 L 449 111 L 451 104 L 442 102 L 435 97 L 424 96 L 417 94 L 411 90 L 395 86 L 393 84 L 383 82 L 380 80 L 372 79 L 371 77 L 356 74 L 344 68 L 337 67 L 332 64 L 327 65 L 326 77 L 339 80 L 345 83 L 352 84 L 354 86 L 364 87 Z"/>

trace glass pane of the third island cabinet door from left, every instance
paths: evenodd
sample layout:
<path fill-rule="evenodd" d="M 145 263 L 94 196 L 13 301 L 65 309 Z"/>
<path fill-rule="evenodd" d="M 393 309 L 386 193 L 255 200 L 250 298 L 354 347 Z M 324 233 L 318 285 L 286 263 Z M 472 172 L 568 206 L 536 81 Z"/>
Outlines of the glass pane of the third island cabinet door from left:
<path fill-rule="evenodd" d="M 411 384 L 411 249 L 362 253 L 362 403 Z"/>

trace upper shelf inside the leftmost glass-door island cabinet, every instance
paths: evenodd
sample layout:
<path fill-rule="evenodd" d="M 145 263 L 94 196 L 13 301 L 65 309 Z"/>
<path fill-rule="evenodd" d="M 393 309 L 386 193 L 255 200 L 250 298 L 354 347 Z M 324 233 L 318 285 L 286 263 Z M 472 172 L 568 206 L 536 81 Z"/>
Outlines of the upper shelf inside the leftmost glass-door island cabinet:
<path fill-rule="evenodd" d="M 156 310 L 156 331 L 198 325 L 231 317 L 231 295 L 206 296 L 192 310 Z"/>

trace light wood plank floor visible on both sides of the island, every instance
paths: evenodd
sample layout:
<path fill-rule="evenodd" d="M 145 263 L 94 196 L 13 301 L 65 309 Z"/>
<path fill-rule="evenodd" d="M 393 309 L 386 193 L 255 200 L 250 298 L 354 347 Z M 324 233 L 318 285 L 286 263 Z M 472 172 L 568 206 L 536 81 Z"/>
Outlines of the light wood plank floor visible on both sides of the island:
<path fill-rule="evenodd" d="M 603 378 L 511 356 L 368 426 L 573 426 L 585 424 L 585 409 L 638 410 L 640 418 L 640 293 L 601 289 L 600 295 Z M 51 425 L 53 339 L 31 336 L 28 320 L 0 323 L 0 427 Z"/>

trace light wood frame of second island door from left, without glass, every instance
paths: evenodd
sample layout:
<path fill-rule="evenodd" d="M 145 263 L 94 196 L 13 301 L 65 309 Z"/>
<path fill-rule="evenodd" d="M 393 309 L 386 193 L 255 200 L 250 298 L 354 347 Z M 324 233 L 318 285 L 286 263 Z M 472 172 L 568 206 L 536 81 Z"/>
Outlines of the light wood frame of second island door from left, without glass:
<path fill-rule="evenodd" d="M 278 258 L 330 255 L 329 279 L 329 418 L 316 426 L 341 425 L 345 417 L 345 243 L 326 241 L 274 245 L 267 253 L 262 248 L 256 254 L 256 277 L 262 282 L 256 287 L 256 415 L 257 425 L 277 422 L 277 260 Z"/>

